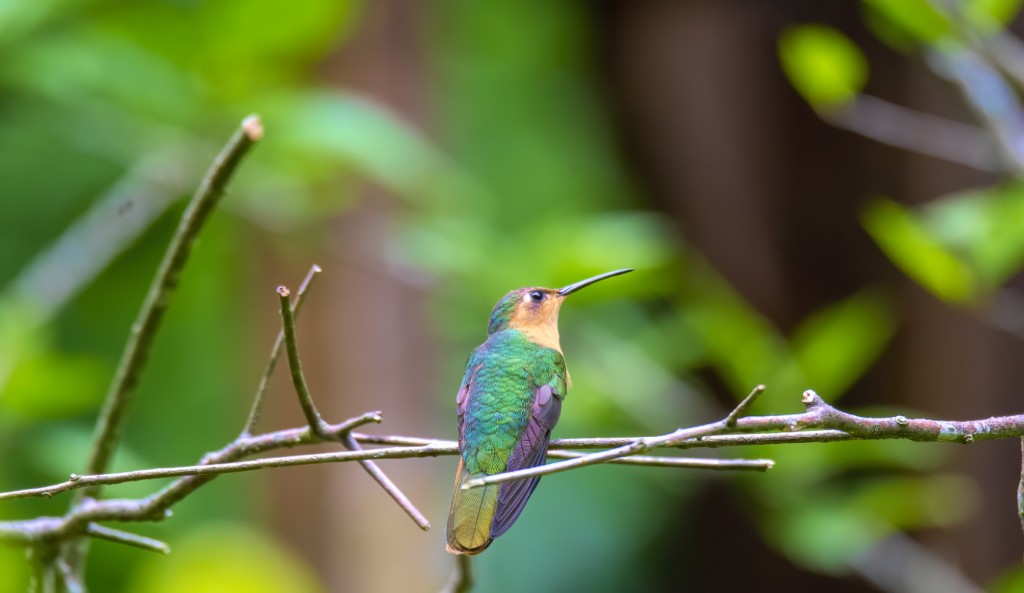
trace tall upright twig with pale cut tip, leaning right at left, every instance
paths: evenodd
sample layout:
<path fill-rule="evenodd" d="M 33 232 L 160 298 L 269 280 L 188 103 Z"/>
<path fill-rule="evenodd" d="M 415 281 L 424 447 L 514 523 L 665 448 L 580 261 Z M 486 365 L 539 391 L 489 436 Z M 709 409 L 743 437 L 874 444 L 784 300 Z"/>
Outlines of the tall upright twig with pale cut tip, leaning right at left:
<path fill-rule="evenodd" d="M 227 181 L 242 162 L 249 149 L 263 135 L 263 126 L 256 116 L 249 116 L 236 131 L 231 139 L 217 156 L 209 172 L 203 179 L 191 202 L 181 217 L 181 222 L 171 239 L 170 246 L 150 285 L 142 308 L 132 325 L 128 343 L 125 344 L 121 363 L 114 375 L 114 381 L 99 413 L 86 473 L 106 471 L 115 447 L 121 436 L 128 407 L 135 393 L 139 376 L 145 367 L 150 348 L 153 345 L 164 311 L 167 309 L 171 293 L 177 286 L 178 276 L 188 259 L 196 237 L 203 223 L 224 194 Z M 95 494 L 94 490 L 83 491 L 76 500 Z"/>

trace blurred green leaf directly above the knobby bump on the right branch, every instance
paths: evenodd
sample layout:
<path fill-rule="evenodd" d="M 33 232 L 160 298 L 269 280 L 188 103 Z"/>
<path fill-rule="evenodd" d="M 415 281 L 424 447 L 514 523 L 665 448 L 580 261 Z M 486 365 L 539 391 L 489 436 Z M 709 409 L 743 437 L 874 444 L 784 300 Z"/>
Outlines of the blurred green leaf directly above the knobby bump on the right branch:
<path fill-rule="evenodd" d="M 861 292 L 805 320 L 793 336 L 794 354 L 815 389 L 838 397 L 879 357 L 894 329 L 885 301 Z"/>

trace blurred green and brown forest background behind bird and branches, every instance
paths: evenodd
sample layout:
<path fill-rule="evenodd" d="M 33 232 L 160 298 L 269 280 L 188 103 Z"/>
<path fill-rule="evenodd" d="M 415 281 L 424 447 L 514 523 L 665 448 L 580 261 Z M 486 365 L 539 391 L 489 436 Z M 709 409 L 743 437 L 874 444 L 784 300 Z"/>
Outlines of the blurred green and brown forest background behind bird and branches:
<path fill-rule="evenodd" d="M 1024 379 L 1020 0 L 0 1 L 0 490 L 80 471 L 166 242 L 238 122 L 266 135 L 204 231 L 115 469 L 241 430 L 279 284 L 331 421 L 454 438 L 506 291 L 574 296 L 556 436 L 659 434 L 800 393 L 1016 414 Z M 302 422 L 284 376 L 263 429 Z M 718 450 L 766 474 L 543 480 L 478 591 L 1024 588 L 1016 439 Z M 222 477 L 96 542 L 94 591 L 434 591 L 454 459 Z M 158 484 L 109 488 L 137 497 Z M 61 513 L 69 497 L 0 504 Z M 134 526 L 133 526 L 134 528 Z M 0 592 L 27 587 L 0 548 Z"/>

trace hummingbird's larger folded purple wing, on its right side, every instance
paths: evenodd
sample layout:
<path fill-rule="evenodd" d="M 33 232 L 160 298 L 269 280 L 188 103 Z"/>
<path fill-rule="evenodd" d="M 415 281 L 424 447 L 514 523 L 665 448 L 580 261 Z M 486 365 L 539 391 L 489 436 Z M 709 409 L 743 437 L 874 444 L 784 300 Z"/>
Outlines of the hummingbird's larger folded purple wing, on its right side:
<path fill-rule="evenodd" d="M 506 471 L 515 471 L 527 467 L 543 465 L 548 460 L 548 441 L 551 440 L 551 429 L 558 422 L 562 410 L 562 400 L 555 394 L 550 385 L 537 389 L 534 396 L 534 409 L 529 421 L 523 430 L 522 437 L 516 443 L 509 456 Z M 534 494 L 541 477 L 517 479 L 502 482 L 498 491 L 498 507 L 495 519 L 490 524 L 490 537 L 497 538 L 512 526 L 519 518 L 526 501 Z"/>

